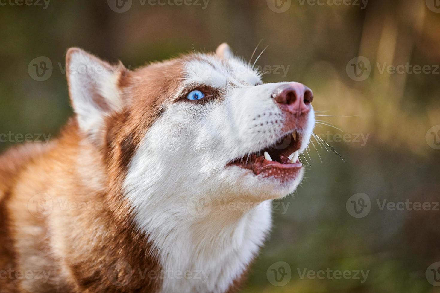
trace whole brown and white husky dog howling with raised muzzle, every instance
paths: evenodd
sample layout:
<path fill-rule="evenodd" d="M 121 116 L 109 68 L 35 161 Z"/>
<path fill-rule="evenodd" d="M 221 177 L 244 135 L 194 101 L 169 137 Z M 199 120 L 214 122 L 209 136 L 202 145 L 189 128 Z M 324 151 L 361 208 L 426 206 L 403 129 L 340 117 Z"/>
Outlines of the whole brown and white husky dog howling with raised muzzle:
<path fill-rule="evenodd" d="M 0 157 L 1 292 L 232 292 L 303 176 L 312 91 L 227 44 L 128 71 L 66 56 L 75 115 Z"/>

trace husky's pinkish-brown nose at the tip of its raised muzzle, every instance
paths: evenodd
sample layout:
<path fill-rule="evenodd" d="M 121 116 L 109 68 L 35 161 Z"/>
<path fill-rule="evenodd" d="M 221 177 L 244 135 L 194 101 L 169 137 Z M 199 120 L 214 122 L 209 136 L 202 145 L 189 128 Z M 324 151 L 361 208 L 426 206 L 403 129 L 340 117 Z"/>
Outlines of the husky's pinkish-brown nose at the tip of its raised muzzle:
<path fill-rule="evenodd" d="M 312 109 L 312 90 L 302 83 L 283 84 L 275 90 L 272 98 L 283 110 L 292 114 L 306 114 Z"/>

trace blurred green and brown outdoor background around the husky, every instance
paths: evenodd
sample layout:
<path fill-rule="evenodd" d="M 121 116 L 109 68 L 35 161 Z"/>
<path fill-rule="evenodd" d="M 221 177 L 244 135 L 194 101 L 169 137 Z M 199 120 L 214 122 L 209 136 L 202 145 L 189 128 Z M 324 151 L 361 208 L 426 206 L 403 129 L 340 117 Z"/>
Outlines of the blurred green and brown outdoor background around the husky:
<path fill-rule="evenodd" d="M 264 81 L 294 80 L 314 91 L 317 119 L 328 124 L 315 134 L 345 163 L 314 140 L 316 149 L 301 158 L 310 164 L 306 178 L 275 203 L 274 230 L 243 292 L 440 292 L 432 285 L 440 285 L 440 206 L 433 208 L 440 201 L 440 1 L 128 0 L 123 8 L 114 0 L 18 1 L 0 3 L 0 134 L 57 135 L 72 115 L 69 47 L 133 69 L 223 42 L 249 60 L 262 40 L 257 55 L 269 46 L 257 62 L 269 71 Z M 52 72 L 38 81 L 32 64 L 41 56 Z M 407 63 L 430 72 L 389 67 Z M 0 151 L 15 142 L 2 141 Z M 353 217 L 350 198 L 358 193 L 370 199 L 370 212 Z M 431 209 L 381 208 L 384 200 Z M 368 276 L 303 276 L 327 268 Z"/>

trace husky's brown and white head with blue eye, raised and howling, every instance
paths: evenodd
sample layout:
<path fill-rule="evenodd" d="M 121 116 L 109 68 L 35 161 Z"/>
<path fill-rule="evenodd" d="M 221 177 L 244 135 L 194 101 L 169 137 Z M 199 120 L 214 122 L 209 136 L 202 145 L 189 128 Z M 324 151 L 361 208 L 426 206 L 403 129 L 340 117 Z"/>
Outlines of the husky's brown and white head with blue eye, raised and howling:
<path fill-rule="evenodd" d="M 67 77 L 81 131 L 105 152 L 132 206 L 204 196 L 262 202 L 301 181 L 312 91 L 264 84 L 226 44 L 135 71 L 70 49 Z"/>

